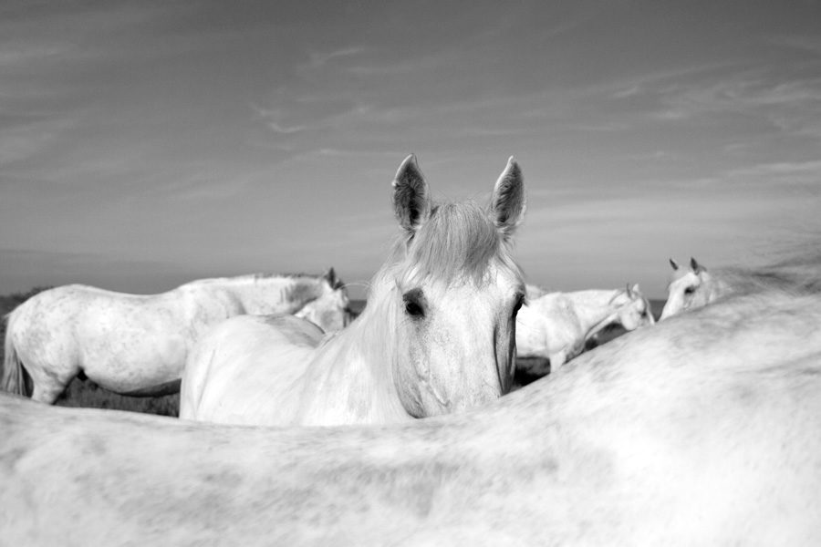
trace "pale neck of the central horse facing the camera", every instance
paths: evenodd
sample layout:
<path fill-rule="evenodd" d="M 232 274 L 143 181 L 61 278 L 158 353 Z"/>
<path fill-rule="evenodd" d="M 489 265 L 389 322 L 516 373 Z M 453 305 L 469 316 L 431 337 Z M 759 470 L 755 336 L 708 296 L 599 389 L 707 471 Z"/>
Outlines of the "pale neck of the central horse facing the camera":
<path fill-rule="evenodd" d="M 396 310 L 387 296 L 369 297 L 353 323 L 317 348 L 304 376 L 302 425 L 411 419 L 394 382 Z"/>

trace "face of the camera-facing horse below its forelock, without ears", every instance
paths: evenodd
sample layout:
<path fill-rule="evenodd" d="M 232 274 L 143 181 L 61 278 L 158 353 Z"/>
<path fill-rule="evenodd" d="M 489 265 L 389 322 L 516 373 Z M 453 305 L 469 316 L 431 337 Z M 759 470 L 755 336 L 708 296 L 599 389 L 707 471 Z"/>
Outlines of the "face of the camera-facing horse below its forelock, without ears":
<path fill-rule="evenodd" d="M 483 405 L 510 390 L 521 279 L 491 268 L 492 283 L 399 285 L 396 381 L 422 418 Z"/>

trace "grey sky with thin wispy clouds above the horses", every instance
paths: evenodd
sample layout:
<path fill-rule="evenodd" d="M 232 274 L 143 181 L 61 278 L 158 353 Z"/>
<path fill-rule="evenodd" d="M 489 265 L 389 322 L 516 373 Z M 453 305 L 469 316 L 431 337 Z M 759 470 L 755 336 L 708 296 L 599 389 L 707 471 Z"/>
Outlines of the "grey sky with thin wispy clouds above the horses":
<path fill-rule="evenodd" d="M 657 297 L 817 238 L 819 145 L 819 2 L 5 1 L 0 294 L 366 282 L 414 152 L 453 199 L 519 160 L 530 281 Z"/>

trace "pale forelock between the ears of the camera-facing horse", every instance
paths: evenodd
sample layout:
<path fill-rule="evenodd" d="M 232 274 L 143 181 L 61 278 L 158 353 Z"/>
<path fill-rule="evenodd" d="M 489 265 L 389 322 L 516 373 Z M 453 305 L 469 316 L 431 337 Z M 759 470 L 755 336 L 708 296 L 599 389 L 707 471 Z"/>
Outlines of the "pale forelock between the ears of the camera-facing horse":
<path fill-rule="evenodd" d="M 510 251 L 510 244 L 487 212 L 468 201 L 433 208 L 431 217 L 410 241 L 398 242 L 394 258 L 398 277 L 404 283 L 434 280 L 449 285 L 463 280 L 483 286 L 489 282 L 489 268 L 494 262 L 519 279 L 524 278 Z"/>

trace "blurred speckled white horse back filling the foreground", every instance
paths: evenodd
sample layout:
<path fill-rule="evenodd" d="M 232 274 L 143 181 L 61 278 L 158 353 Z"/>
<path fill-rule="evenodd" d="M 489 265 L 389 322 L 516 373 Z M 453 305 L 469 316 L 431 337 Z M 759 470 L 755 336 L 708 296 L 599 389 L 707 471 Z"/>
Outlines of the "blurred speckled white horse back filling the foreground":
<path fill-rule="evenodd" d="M 483 408 L 390 426 L 248 428 L 0 397 L 0 538 L 818 545 L 819 291 L 816 277 L 734 294 Z"/>

